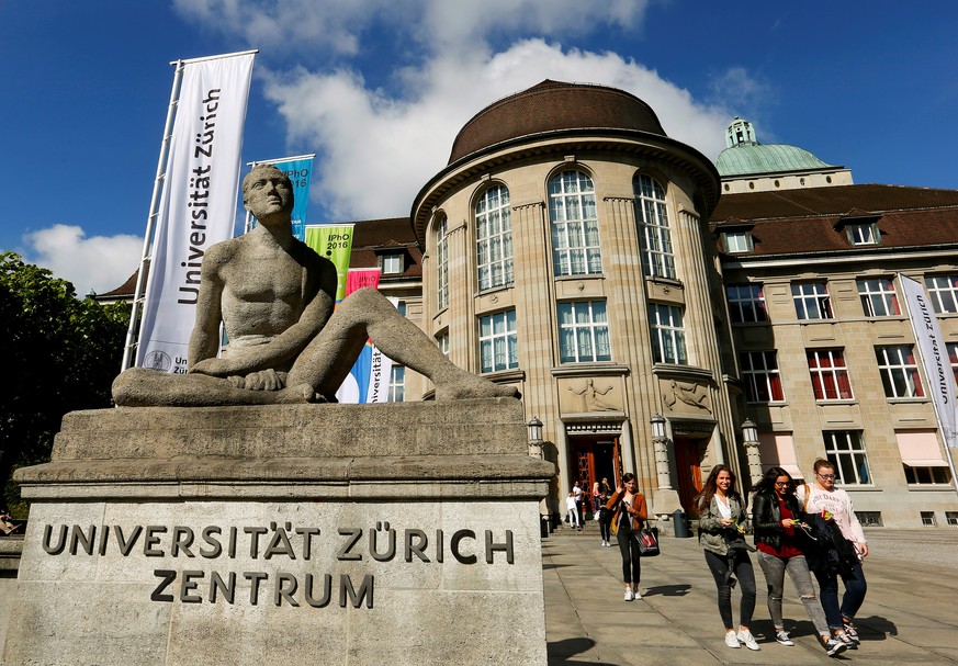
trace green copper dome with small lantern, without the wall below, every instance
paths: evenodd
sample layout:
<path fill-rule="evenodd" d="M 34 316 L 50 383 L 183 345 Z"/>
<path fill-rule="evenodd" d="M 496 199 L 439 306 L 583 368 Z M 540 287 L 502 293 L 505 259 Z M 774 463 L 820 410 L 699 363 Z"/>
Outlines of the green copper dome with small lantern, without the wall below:
<path fill-rule="evenodd" d="M 769 144 L 765 146 L 759 144 L 755 140 L 752 123 L 739 117 L 729 125 L 726 144 L 730 147 L 722 150 L 715 160 L 715 168 L 722 178 L 839 168 L 835 165 L 823 162 L 808 150 L 798 146 L 786 144 Z"/>

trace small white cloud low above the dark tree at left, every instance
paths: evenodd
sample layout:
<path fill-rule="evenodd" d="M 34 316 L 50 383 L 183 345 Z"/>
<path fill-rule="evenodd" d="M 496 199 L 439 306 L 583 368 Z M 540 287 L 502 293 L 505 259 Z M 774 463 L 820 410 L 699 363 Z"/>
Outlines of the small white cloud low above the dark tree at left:
<path fill-rule="evenodd" d="M 143 238 L 131 234 L 87 238 L 76 225 L 57 224 L 24 237 L 31 248 L 24 260 L 74 283 L 77 295 L 116 289 L 136 270 Z"/>

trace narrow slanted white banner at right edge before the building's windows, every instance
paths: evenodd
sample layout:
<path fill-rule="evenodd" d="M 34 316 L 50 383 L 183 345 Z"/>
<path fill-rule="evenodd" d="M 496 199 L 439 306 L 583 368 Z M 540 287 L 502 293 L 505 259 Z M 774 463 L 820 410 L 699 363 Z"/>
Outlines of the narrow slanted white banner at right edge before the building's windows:
<path fill-rule="evenodd" d="M 948 361 L 948 350 L 935 311 L 921 283 L 899 274 L 908 305 L 909 318 L 915 332 L 915 342 L 928 377 L 928 393 L 935 405 L 938 427 L 948 448 L 958 448 L 958 405 L 956 405 L 955 373 Z"/>

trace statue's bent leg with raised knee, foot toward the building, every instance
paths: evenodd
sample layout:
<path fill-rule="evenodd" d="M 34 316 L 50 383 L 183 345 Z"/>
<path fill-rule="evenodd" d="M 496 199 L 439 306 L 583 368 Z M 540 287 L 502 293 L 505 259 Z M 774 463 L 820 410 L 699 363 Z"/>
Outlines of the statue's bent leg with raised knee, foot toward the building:
<path fill-rule="evenodd" d="M 367 339 L 396 363 L 431 380 L 437 399 L 517 395 L 511 386 L 493 384 L 453 365 L 415 324 L 373 289 L 356 291 L 339 304 L 300 354 L 288 382 L 312 384 L 323 395 L 335 393 Z"/>

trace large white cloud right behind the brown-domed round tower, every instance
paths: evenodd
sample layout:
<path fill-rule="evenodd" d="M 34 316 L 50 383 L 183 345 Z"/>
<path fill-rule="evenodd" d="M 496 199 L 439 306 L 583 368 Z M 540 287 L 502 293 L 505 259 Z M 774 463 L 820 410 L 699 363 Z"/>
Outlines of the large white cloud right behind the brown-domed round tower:
<path fill-rule="evenodd" d="M 313 193 L 335 219 L 408 214 L 419 189 L 447 163 L 455 134 L 483 108 L 543 79 L 627 90 L 649 103 L 666 133 L 714 158 L 724 147 L 730 114 L 634 60 L 612 53 L 563 50 L 542 39 L 491 55 L 444 53 L 398 72 L 407 97 L 372 90 L 340 69 L 266 76 L 289 140 L 323 154 Z M 375 192 L 375 196 L 370 196 Z"/>

